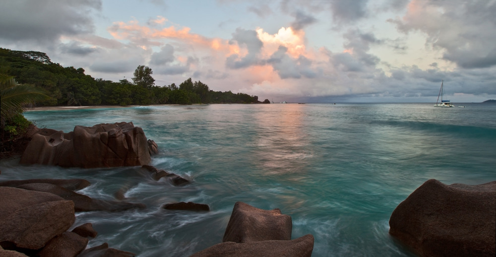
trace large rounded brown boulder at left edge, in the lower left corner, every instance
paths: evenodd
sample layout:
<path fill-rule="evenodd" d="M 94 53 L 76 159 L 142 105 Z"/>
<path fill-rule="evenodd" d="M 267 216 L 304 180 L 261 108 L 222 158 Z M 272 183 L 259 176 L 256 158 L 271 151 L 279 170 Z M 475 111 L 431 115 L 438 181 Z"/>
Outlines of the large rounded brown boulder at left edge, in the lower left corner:
<path fill-rule="evenodd" d="M 74 203 L 57 195 L 10 187 L 0 187 L 0 195 L 2 243 L 40 249 L 74 223 Z"/>

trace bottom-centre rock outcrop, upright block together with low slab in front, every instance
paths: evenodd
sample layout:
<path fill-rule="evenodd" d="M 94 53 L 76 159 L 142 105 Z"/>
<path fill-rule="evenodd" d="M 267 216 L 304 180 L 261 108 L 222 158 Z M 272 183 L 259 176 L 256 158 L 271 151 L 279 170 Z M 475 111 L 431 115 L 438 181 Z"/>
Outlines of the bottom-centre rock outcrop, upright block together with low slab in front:
<path fill-rule="evenodd" d="M 313 236 L 291 240 L 291 217 L 279 209 L 263 210 L 236 202 L 224 234 L 223 243 L 191 257 L 310 257 Z"/>

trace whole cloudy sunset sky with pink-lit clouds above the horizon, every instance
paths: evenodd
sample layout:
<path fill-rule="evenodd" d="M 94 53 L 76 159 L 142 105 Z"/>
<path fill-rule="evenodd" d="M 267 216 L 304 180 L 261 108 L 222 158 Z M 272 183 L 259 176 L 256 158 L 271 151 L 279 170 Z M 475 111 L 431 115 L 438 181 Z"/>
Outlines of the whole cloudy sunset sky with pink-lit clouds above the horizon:
<path fill-rule="evenodd" d="M 274 102 L 496 99 L 496 0 L 0 0 L 0 47 Z"/>

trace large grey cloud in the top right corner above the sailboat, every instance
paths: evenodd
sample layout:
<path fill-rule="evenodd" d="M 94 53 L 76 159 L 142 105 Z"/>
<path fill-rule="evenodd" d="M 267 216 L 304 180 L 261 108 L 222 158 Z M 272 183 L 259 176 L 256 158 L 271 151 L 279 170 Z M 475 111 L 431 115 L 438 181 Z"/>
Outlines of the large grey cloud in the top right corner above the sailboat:
<path fill-rule="evenodd" d="M 421 31 L 426 44 L 444 51 L 442 58 L 462 68 L 496 65 L 496 2 L 412 0 L 400 19 L 389 19 L 399 31 Z"/>

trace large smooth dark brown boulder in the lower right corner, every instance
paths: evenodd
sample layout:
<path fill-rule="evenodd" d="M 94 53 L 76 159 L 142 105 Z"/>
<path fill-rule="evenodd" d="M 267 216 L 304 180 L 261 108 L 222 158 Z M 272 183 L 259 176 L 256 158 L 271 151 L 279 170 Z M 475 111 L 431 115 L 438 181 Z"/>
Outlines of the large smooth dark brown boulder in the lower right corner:
<path fill-rule="evenodd" d="M 496 181 L 428 180 L 391 214 L 389 234 L 420 256 L 496 255 Z"/>

